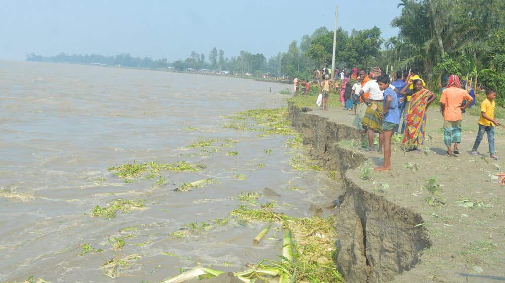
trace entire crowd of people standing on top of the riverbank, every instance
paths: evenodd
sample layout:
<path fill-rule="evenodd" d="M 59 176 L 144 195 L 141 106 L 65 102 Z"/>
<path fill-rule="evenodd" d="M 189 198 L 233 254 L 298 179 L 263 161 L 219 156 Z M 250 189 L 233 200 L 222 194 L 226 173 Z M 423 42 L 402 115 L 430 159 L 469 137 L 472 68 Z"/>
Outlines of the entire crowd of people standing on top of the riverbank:
<path fill-rule="evenodd" d="M 334 81 L 330 81 L 331 68 L 324 66 L 321 71 L 314 70 L 312 82 L 321 87 L 323 110 L 328 110 L 328 100 L 332 89 L 335 90 L 337 96 L 339 95 L 342 109 L 347 111 L 354 109 L 356 116 L 352 124 L 368 139 L 369 152 L 374 151 L 374 138 L 378 134 L 378 152 L 384 153 L 384 164 L 375 170 L 390 170 L 391 137 L 394 134 L 403 135 L 403 150 L 423 151 L 426 112 L 437 99 L 437 95 L 427 89 L 418 68 L 413 68 L 408 72 L 398 71 L 395 73 L 394 80 L 391 80 L 377 67 L 370 73 L 367 73 L 365 69 L 358 70 L 357 67 L 353 67 L 350 79 L 356 79 L 355 84 L 349 82 L 348 75 L 346 68 L 343 70 L 336 68 Z M 303 86 L 309 84 L 309 82 L 302 82 Z M 296 85 L 297 82 L 295 87 Z M 480 105 L 479 130 L 471 153 L 480 155 L 477 150 L 486 133 L 489 157 L 498 160 L 494 152 L 493 126 L 504 126 L 494 118 L 495 96 L 494 90 L 486 90 L 486 99 Z M 457 75 L 451 75 L 440 97 L 440 113 L 444 121 L 444 144 L 447 147 L 445 154 L 448 157 L 460 153 L 458 145 L 461 143 L 462 113 L 473 104 L 475 104 L 475 95 L 470 95 L 462 87 Z M 400 123 L 401 120 L 402 123 Z"/>

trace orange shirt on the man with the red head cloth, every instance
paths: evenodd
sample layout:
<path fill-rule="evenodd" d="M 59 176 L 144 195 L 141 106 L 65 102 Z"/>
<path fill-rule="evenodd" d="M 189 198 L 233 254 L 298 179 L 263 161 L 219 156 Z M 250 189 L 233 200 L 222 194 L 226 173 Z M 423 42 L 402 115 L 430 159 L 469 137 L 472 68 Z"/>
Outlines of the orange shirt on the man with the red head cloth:
<path fill-rule="evenodd" d="M 472 103 L 473 98 L 464 90 L 457 87 L 448 87 L 442 91 L 440 103 L 445 104 L 443 119 L 445 121 L 461 120 L 461 104 L 466 100 Z"/>

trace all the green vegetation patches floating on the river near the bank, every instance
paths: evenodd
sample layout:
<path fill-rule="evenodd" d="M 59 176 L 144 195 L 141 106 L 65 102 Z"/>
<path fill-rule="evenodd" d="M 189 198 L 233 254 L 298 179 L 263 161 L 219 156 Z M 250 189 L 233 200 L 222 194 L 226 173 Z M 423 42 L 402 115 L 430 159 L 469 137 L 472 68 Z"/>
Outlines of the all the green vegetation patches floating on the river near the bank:
<path fill-rule="evenodd" d="M 288 136 L 285 141 L 285 146 L 291 149 L 300 149 L 302 145 L 301 135 L 290 127 L 286 120 L 287 108 L 274 109 L 257 109 L 248 110 L 237 113 L 235 115 L 226 116 L 231 122 L 223 124 L 224 128 L 229 128 L 237 131 L 251 131 L 257 133 L 259 137 L 270 135 Z M 193 129 L 193 128 L 191 128 Z M 238 155 L 236 150 L 222 151 L 223 148 L 233 147 L 238 141 L 232 139 L 216 139 L 216 138 L 198 138 L 193 140 L 185 147 L 186 151 L 190 151 L 189 156 L 207 156 L 214 153 L 220 153 L 222 156 Z M 270 149 L 263 150 L 264 154 L 271 154 Z M 311 160 L 308 156 L 298 154 L 297 151 L 291 151 L 293 154 L 289 165 L 294 170 L 322 170 L 317 165 L 317 162 Z M 265 158 L 265 157 L 262 157 Z M 248 164 L 248 163 L 246 163 Z M 263 162 L 250 162 L 256 168 L 266 166 Z M 154 179 L 158 186 L 166 184 L 167 178 L 163 173 L 169 172 L 198 172 L 204 169 L 204 166 L 193 165 L 185 161 L 179 161 L 172 164 L 163 164 L 157 162 L 125 164 L 122 166 L 111 167 L 108 170 L 114 172 L 115 176 L 124 178 L 126 182 L 133 182 L 138 179 Z M 246 175 L 235 171 L 235 175 L 230 176 L 231 179 L 245 180 Z M 331 175 L 331 174 L 330 174 Z M 334 177 L 335 174 L 333 174 Z M 182 182 L 174 191 L 187 192 L 196 187 L 203 187 L 207 184 L 218 182 L 214 178 L 205 178 L 193 182 Z M 296 186 L 291 186 L 286 190 L 301 190 Z M 177 230 L 168 233 L 167 235 L 175 238 L 194 238 L 208 237 L 210 233 L 220 226 L 238 225 L 238 226 L 262 226 L 262 230 L 251 235 L 251 241 L 255 245 L 273 244 L 277 240 L 276 233 L 283 233 L 282 254 L 279 255 L 277 261 L 264 260 L 256 265 L 248 265 L 246 270 L 234 272 L 235 276 L 242 280 L 254 282 L 257 279 L 269 278 L 280 282 L 341 282 L 340 274 L 338 273 L 332 256 L 336 251 L 335 239 L 336 233 L 333 229 L 334 219 L 332 217 L 320 218 L 318 216 L 310 218 L 293 218 L 286 215 L 282 211 L 289 207 L 290 204 L 278 204 L 275 200 L 260 203 L 263 198 L 260 192 L 240 192 L 234 199 L 239 200 L 242 204 L 232 209 L 228 216 L 220 216 L 209 219 L 208 221 L 189 222 Z M 114 218 L 117 211 L 123 213 L 133 209 L 143 207 L 143 201 L 135 200 L 115 200 L 108 203 L 107 206 L 95 206 L 91 213 L 92 216 L 102 216 L 106 218 Z M 170 212 L 168 209 L 162 209 Z M 111 250 L 118 251 L 123 249 L 127 237 L 136 237 L 135 233 L 138 227 L 129 227 L 120 230 L 120 234 L 107 237 L 108 247 Z M 137 232 L 135 232 L 137 231 Z M 272 236 L 269 236 L 272 235 Z M 256 237 L 255 237 L 256 236 Z M 265 239 L 265 240 L 264 240 Z M 150 243 L 145 241 L 137 244 Z M 131 245 L 131 244 L 130 244 Z M 96 253 L 101 250 L 95 249 L 88 244 L 83 246 L 82 254 Z M 166 255 L 177 256 L 171 253 Z M 117 277 L 125 275 L 124 272 L 136 264 L 139 255 L 121 255 L 107 261 L 102 270 L 109 277 Z M 223 263 L 224 264 L 224 263 Z M 229 263 L 228 263 L 229 264 Z M 225 265 L 226 266 L 226 265 Z M 198 266 L 189 270 L 185 270 L 180 275 L 168 278 L 163 282 L 182 282 L 188 278 L 197 276 L 200 278 L 217 276 L 222 271 Z"/>

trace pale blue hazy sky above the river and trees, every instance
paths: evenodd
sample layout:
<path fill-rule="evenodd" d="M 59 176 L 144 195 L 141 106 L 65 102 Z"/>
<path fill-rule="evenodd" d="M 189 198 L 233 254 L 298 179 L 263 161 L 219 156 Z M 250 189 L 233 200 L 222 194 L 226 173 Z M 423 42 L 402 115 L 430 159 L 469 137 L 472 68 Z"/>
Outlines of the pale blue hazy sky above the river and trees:
<path fill-rule="evenodd" d="M 304 35 L 335 25 L 344 30 L 378 26 L 383 38 L 399 0 L 288 1 L 111 1 L 0 0 L 0 59 L 24 60 L 26 54 L 116 55 L 130 53 L 169 61 L 216 47 L 225 57 L 240 50 L 267 58 Z"/>

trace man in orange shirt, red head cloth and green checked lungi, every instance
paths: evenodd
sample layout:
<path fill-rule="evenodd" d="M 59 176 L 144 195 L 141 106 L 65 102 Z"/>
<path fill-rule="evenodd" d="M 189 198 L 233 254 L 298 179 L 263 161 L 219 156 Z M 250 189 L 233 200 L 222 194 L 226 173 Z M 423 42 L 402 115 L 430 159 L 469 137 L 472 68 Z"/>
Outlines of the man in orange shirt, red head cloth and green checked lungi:
<path fill-rule="evenodd" d="M 461 106 L 466 100 L 464 106 Z M 449 77 L 447 88 L 440 97 L 440 112 L 444 119 L 444 143 L 447 146 L 447 156 L 459 154 L 458 144 L 461 143 L 461 112 L 472 103 L 473 98 L 461 88 L 460 78 L 457 75 Z M 454 144 L 454 150 L 450 146 Z"/>

